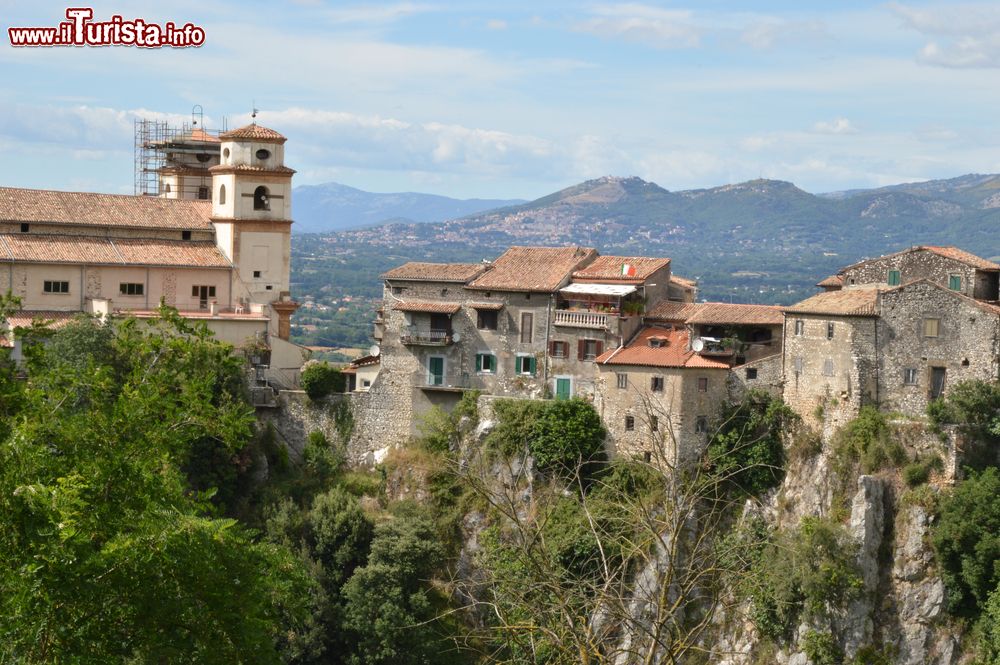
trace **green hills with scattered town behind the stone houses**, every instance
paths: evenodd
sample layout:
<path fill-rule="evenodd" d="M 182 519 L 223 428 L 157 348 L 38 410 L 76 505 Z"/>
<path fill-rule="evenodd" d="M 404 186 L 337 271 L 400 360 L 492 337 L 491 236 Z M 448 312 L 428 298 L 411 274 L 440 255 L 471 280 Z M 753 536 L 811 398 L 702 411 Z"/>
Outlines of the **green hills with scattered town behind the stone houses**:
<path fill-rule="evenodd" d="M 669 256 L 677 274 L 701 282 L 705 298 L 788 303 L 814 292 L 816 281 L 841 266 L 913 244 L 1000 255 L 998 230 L 996 175 L 833 195 L 776 180 L 670 192 L 609 176 L 528 203 L 440 223 L 357 229 L 309 246 L 315 258 L 336 247 L 342 259 L 372 252 L 447 261 L 491 258 L 515 244 L 578 243 L 605 253 Z M 357 278 L 377 282 L 377 273 Z"/>

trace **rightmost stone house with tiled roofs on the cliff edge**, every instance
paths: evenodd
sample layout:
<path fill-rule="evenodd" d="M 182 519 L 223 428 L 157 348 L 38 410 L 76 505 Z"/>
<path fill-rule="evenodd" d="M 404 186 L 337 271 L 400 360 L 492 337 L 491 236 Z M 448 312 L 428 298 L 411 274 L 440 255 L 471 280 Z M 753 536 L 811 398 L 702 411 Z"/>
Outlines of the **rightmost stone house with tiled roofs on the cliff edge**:
<path fill-rule="evenodd" d="M 866 404 L 920 417 L 957 382 L 995 381 L 998 274 L 958 248 L 919 246 L 823 280 L 785 310 L 785 401 L 829 435 Z"/>

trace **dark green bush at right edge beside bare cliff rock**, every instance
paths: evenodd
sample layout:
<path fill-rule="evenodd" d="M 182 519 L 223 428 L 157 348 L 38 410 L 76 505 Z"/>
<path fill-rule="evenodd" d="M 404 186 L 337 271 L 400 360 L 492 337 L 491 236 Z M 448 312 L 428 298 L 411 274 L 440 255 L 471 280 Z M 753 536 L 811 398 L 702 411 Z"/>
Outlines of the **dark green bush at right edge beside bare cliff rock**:
<path fill-rule="evenodd" d="M 976 616 L 1000 584 L 1000 472 L 988 468 L 941 501 L 931 534 L 953 614 Z"/>

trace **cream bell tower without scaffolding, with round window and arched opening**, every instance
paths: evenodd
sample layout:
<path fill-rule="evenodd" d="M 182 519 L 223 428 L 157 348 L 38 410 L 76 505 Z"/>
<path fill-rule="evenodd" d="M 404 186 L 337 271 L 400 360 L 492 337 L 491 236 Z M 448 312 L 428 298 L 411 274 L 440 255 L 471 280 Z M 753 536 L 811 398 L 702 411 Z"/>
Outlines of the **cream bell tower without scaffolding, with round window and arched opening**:
<path fill-rule="evenodd" d="M 298 304 L 289 291 L 292 175 L 285 137 L 256 123 L 219 136 L 221 161 L 212 173 L 216 243 L 236 266 L 233 293 L 268 305 L 271 334 L 288 339 Z"/>

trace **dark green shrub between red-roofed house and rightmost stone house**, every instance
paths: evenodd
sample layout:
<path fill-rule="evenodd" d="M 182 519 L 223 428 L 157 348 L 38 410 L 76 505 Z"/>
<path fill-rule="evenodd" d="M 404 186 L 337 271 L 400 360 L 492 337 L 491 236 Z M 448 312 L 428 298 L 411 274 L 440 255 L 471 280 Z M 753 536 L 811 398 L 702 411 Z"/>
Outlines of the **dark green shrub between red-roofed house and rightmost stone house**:
<path fill-rule="evenodd" d="M 785 477 L 782 432 L 798 416 L 777 397 L 753 390 L 723 417 L 708 445 L 715 473 L 727 484 L 759 496 Z"/>

